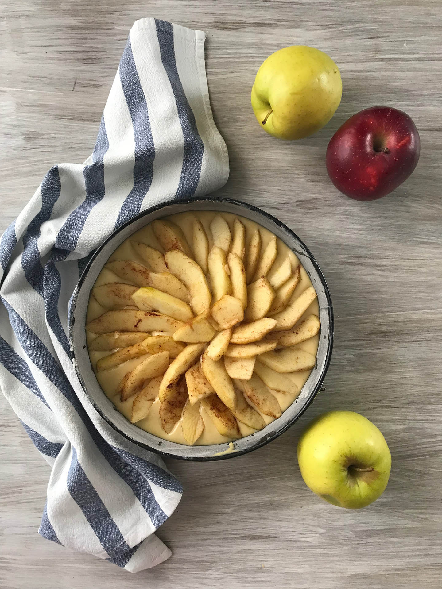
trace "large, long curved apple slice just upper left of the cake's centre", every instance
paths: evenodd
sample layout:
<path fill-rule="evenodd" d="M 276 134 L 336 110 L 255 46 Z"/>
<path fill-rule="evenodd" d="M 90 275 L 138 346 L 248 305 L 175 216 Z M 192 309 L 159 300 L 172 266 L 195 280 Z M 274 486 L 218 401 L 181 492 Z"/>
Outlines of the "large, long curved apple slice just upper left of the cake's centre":
<path fill-rule="evenodd" d="M 212 300 L 209 285 L 200 266 L 180 250 L 171 250 L 164 254 L 167 267 L 189 289 L 190 306 L 196 315 L 209 309 Z"/>

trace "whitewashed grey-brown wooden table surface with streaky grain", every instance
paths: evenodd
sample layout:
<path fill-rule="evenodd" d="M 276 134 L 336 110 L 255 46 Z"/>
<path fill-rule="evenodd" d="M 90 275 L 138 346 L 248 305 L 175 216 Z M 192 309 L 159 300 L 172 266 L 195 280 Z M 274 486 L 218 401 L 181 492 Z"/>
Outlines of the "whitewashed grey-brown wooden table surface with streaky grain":
<path fill-rule="evenodd" d="M 3 0 L 0 232 L 52 164 L 91 153 L 128 30 L 156 16 L 207 31 L 213 112 L 230 155 L 220 196 L 279 217 L 324 270 L 336 336 L 326 391 L 281 438 L 215 464 L 168 461 L 184 496 L 159 536 L 172 557 L 131 575 L 39 537 L 49 469 L 0 398 L 0 586 L 7 589 L 439 588 L 442 575 L 442 5 L 438 0 Z M 339 65 L 344 94 L 314 137 L 259 128 L 249 93 L 285 45 Z M 358 203 L 326 176 L 325 148 L 370 105 L 408 112 L 421 136 L 413 176 Z M 327 409 L 376 423 L 391 448 L 387 491 L 361 511 L 305 487 L 296 441 Z"/>

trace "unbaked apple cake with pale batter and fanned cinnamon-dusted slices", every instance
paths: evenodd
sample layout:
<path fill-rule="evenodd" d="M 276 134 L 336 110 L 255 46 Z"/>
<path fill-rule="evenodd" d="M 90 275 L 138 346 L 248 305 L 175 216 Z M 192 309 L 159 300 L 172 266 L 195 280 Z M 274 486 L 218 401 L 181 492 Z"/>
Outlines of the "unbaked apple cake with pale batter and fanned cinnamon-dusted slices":
<path fill-rule="evenodd" d="M 315 366 L 316 292 L 271 231 L 230 213 L 155 220 L 91 291 L 98 383 L 139 428 L 172 442 L 242 438 L 281 416 Z"/>

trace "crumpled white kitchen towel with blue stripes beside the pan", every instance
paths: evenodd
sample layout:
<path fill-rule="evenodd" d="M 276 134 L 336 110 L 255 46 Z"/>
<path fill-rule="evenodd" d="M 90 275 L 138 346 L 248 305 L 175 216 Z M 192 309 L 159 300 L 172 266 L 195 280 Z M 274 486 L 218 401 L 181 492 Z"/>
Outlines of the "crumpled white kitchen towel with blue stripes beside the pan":
<path fill-rule="evenodd" d="M 133 25 L 93 154 L 51 168 L 0 247 L 0 385 L 52 468 L 39 533 L 133 573 L 169 557 L 154 532 L 182 487 L 85 397 L 68 303 L 88 255 L 116 227 L 161 201 L 225 184 L 204 39 L 156 19 Z"/>

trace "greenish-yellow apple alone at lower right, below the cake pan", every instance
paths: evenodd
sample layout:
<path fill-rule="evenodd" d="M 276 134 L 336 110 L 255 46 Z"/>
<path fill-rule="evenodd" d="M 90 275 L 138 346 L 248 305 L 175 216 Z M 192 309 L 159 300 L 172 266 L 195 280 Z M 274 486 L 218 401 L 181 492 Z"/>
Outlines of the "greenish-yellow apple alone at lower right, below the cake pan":
<path fill-rule="evenodd" d="M 298 442 L 305 484 L 338 507 L 370 505 L 387 487 L 391 454 L 384 436 L 353 411 L 329 411 L 306 428 Z"/>

